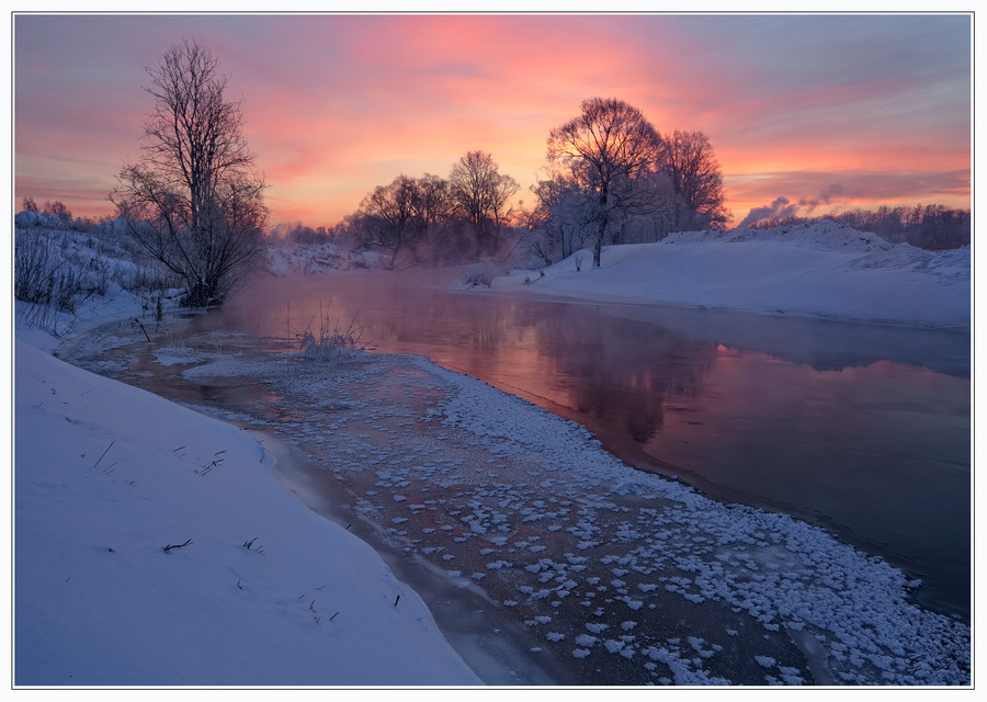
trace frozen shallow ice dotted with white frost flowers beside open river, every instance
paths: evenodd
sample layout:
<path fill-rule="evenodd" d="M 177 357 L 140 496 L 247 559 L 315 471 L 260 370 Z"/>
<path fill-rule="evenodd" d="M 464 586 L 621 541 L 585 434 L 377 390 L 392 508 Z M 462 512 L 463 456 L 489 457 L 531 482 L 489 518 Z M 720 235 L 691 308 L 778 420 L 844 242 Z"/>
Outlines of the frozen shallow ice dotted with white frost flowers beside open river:
<path fill-rule="evenodd" d="M 968 626 L 914 604 L 901 571 L 635 471 L 578 424 L 426 360 L 327 365 L 218 333 L 111 346 L 115 361 L 97 337 L 73 359 L 273 432 L 316 466 L 294 483 L 308 501 L 483 610 L 470 645 L 501 623 L 508 663 L 532 661 L 519 682 L 971 682 Z"/>

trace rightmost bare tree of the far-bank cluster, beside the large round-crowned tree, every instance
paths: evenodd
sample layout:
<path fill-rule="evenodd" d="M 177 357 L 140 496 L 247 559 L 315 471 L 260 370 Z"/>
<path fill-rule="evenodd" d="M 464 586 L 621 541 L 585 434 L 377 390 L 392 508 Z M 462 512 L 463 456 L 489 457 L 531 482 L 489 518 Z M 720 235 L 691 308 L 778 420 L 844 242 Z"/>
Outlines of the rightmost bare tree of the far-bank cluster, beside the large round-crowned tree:
<path fill-rule="evenodd" d="M 666 136 L 662 168 L 671 177 L 684 212 L 682 228 L 722 227 L 729 222 L 723 173 L 710 137 L 676 129 Z"/>

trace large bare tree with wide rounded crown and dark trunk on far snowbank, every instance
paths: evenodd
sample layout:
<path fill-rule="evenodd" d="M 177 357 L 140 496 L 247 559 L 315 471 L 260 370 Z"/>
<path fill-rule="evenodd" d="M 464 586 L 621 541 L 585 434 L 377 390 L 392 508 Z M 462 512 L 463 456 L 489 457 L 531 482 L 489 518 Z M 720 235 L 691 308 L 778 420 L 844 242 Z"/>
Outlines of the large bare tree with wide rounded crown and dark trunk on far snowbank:
<path fill-rule="evenodd" d="M 613 98 L 592 98 L 582 114 L 548 135 L 548 160 L 568 168 L 592 196 L 593 267 L 599 268 L 608 229 L 623 219 L 636 179 L 657 169 L 661 137 L 636 107 Z"/>

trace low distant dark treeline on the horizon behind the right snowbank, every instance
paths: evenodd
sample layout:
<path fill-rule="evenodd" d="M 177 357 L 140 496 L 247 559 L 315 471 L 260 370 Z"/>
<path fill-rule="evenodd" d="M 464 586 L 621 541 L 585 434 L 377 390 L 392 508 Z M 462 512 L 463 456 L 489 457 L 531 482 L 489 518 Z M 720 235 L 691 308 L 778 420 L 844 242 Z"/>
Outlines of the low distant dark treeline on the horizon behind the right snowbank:
<path fill-rule="evenodd" d="M 832 219 L 839 224 L 871 231 L 892 244 L 908 242 L 926 249 L 951 249 L 969 244 L 971 211 L 953 210 L 944 205 L 915 205 L 877 210 L 853 210 L 821 217 L 775 217 L 749 225 L 756 229 L 815 223 Z"/>

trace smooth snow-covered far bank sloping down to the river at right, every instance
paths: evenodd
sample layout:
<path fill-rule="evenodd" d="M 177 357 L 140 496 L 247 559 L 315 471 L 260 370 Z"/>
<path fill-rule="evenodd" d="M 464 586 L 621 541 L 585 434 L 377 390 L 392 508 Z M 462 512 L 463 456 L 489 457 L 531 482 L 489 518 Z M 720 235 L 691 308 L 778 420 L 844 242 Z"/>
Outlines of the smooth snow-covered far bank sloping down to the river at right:
<path fill-rule="evenodd" d="M 492 288 L 968 330 L 971 247 L 932 252 L 831 222 L 692 231 L 606 247 L 600 269 L 581 251 L 511 271 Z"/>

